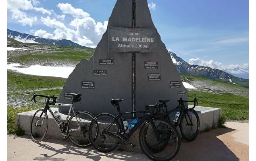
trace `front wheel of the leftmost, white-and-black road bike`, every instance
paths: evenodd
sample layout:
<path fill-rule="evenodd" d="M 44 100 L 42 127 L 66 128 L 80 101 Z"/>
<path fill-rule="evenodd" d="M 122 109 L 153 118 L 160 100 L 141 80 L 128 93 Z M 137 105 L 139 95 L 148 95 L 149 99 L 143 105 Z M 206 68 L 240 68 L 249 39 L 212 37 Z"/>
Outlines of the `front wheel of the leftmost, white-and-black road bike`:
<path fill-rule="evenodd" d="M 44 114 L 42 114 L 44 112 Z M 41 118 L 40 115 L 42 114 Z M 36 125 L 37 123 L 37 125 Z M 41 128 L 42 127 L 42 128 Z M 30 124 L 30 136 L 33 140 L 33 142 L 40 142 L 44 139 L 46 136 L 46 132 L 48 129 L 48 116 L 47 112 L 44 111 L 44 109 L 38 109 L 35 114 L 33 115 L 33 118 L 31 120 Z"/>

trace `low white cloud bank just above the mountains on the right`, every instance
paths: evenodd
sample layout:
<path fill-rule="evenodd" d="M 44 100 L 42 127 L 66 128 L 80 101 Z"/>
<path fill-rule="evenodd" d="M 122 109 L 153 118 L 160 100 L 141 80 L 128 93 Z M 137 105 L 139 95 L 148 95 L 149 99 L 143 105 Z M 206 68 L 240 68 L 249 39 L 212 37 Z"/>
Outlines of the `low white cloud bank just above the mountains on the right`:
<path fill-rule="evenodd" d="M 200 66 L 209 66 L 211 68 L 216 68 L 216 69 L 233 69 L 233 68 L 242 68 L 242 69 L 248 69 L 248 63 L 245 64 L 229 64 L 229 65 L 223 65 L 221 62 L 214 62 L 213 60 L 201 60 L 200 58 L 192 58 L 189 59 L 188 61 L 189 64 L 196 64 L 196 65 L 200 65 Z"/>

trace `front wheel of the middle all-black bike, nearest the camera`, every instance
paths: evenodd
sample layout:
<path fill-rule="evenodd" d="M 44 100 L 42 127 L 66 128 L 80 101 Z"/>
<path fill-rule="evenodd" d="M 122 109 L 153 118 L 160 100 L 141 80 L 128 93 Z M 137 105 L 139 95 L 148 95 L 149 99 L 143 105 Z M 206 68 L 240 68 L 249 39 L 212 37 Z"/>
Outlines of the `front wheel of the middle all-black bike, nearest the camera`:
<path fill-rule="evenodd" d="M 173 126 L 169 121 L 162 119 L 162 118 L 155 118 L 154 124 L 162 123 L 166 125 L 166 129 L 158 130 L 158 133 L 160 134 L 161 138 L 163 140 L 157 141 L 156 137 L 154 135 L 154 132 L 152 129 L 149 129 L 150 122 L 146 122 L 140 132 L 139 132 L 139 145 L 144 152 L 144 154 L 152 159 L 153 161 L 169 161 L 173 159 L 179 152 L 179 148 L 181 145 L 181 140 L 179 137 L 179 133 L 175 126 Z M 169 137 L 169 133 L 171 134 L 171 137 Z M 151 136 L 150 136 L 151 135 Z M 166 136 L 166 137 L 164 137 Z M 173 142 L 171 142 L 173 141 Z M 153 144 L 149 147 L 149 142 L 153 142 Z M 164 149 L 162 149 L 162 144 L 165 144 L 165 142 L 168 142 L 168 145 L 164 146 Z M 174 143 L 174 144 L 173 144 Z M 174 145 L 174 146 L 172 146 Z M 159 147 L 158 151 L 152 151 L 151 147 Z M 163 153 L 162 153 L 163 152 Z M 168 154 L 167 154 L 168 153 Z"/>

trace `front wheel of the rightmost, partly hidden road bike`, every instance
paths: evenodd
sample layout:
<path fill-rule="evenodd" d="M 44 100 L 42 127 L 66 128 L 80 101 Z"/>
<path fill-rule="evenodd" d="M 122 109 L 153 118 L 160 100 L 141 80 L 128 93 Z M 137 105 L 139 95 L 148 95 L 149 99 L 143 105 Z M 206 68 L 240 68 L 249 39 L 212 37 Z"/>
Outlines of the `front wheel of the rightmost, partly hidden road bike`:
<path fill-rule="evenodd" d="M 191 121 L 194 127 L 191 125 L 188 125 L 189 123 L 187 124 L 187 121 L 189 122 L 189 119 L 187 118 L 188 117 L 187 113 L 184 111 L 184 113 L 181 116 L 179 128 L 181 130 L 181 135 L 183 136 L 183 138 L 186 141 L 191 142 L 195 140 L 196 137 L 198 136 L 199 128 L 200 128 L 200 120 L 199 120 L 198 114 L 194 109 L 186 109 L 186 110 L 189 114 L 189 117 L 191 118 Z"/>

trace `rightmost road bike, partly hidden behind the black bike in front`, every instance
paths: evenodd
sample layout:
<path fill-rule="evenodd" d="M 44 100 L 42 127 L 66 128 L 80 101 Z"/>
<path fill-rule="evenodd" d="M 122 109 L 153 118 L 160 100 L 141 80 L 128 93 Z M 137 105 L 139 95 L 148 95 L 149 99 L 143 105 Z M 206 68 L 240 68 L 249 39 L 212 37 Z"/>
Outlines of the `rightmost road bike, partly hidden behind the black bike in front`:
<path fill-rule="evenodd" d="M 196 139 L 198 136 L 199 128 L 200 128 L 200 120 L 198 117 L 198 114 L 194 110 L 196 107 L 196 103 L 198 105 L 198 101 L 195 98 L 193 101 L 184 101 L 182 98 L 178 100 L 179 105 L 171 110 L 167 110 L 167 105 L 166 103 L 170 100 L 164 100 L 164 101 L 159 101 L 160 104 L 159 106 L 162 107 L 162 110 L 164 111 L 163 115 L 157 115 L 156 118 L 165 118 L 170 122 L 173 122 L 171 120 L 169 114 L 171 112 L 179 111 L 179 117 L 175 122 L 175 127 L 179 126 L 181 134 L 183 138 L 190 142 Z M 188 108 L 188 105 L 185 105 L 186 102 L 194 102 L 194 106 L 192 108 Z"/>

